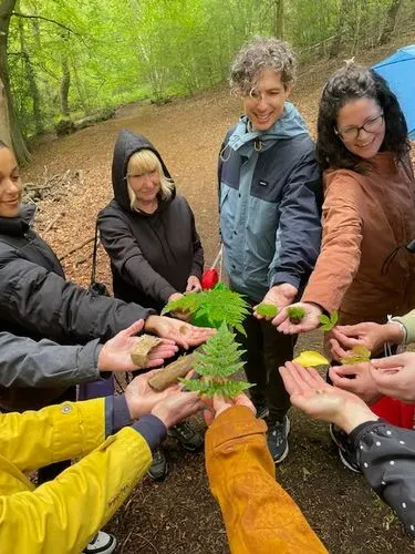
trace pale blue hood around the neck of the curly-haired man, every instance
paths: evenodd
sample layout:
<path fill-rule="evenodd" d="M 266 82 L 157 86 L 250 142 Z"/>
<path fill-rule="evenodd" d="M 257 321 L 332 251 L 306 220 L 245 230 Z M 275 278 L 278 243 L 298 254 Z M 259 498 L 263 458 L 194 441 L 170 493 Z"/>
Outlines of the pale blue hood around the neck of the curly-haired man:
<path fill-rule="evenodd" d="M 284 103 L 282 117 L 280 117 L 268 131 L 248 131 L 249 120 L 243 115 L 234 133 L 231 134 L 227 147 L 239 151 L 240 154 L 249 156 L 253 152 L 255 141 L 261 142 L 260 150 L 267 150 L 276 141 L 292 138 L 301 134 L 309 134 L 308 126 L 297 107 L 290 102 Z M 258 146 L 256 146 L 258 150 Z"/>

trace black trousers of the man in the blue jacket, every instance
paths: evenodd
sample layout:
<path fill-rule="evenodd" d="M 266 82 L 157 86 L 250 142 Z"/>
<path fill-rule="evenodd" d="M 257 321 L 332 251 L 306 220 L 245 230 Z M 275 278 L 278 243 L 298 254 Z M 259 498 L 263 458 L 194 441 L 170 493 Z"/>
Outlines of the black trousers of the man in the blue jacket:
<path fill-rule="evenodd" d="M 252 305 L 258 302 L 251 302 Z M 237 340 L 246 350 L 242 355 L 245 372 L 255 404 L 269 409 L 268 423 L 281 421 L 290 408 L 290 397 L 278 371 L 279 366 L 292 360 L 297 336 L 278 332 L 266 319 L 248 316 L 243 322 L 247 336 L 237 334 Z"/>

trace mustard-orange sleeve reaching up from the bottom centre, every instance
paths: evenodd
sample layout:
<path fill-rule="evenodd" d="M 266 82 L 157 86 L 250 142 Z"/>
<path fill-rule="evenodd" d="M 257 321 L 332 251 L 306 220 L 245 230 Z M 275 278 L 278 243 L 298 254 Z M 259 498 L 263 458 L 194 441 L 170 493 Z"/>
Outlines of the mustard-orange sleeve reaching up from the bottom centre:
<path fill-rule="evenodd" d="M 246 407 L 221 413 L 206 433 L 206 468 L 234 554 L 326 553 L 300 509 L 276 482 L 267 425 Z"/>

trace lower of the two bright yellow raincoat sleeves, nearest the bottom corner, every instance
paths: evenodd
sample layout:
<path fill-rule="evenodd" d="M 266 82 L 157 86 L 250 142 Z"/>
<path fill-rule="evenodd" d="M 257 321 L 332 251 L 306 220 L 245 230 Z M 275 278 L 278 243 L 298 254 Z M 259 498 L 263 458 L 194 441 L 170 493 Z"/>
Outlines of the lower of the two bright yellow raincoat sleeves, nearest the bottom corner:
<path fill-rule="evenodd" d="M 143 437 L 124 428 L 54 481 L 0 496 L 0 551 L 80 554 L 129 495 L 151 460 Z"/>

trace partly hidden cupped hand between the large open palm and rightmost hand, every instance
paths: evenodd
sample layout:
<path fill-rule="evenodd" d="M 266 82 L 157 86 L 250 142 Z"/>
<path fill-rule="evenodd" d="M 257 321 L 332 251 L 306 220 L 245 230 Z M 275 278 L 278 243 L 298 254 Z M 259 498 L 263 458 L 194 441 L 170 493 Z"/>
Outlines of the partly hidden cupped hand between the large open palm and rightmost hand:
<path fill-rule="evenodd" d="M 329 369 L 329 377 L 335 387 L 353 392 L 367 404 L 373 404 L 383 394 L 378 391 L 372 377 L 371 367 L 369 361 L 347 366 L 333 366 Z"/>

